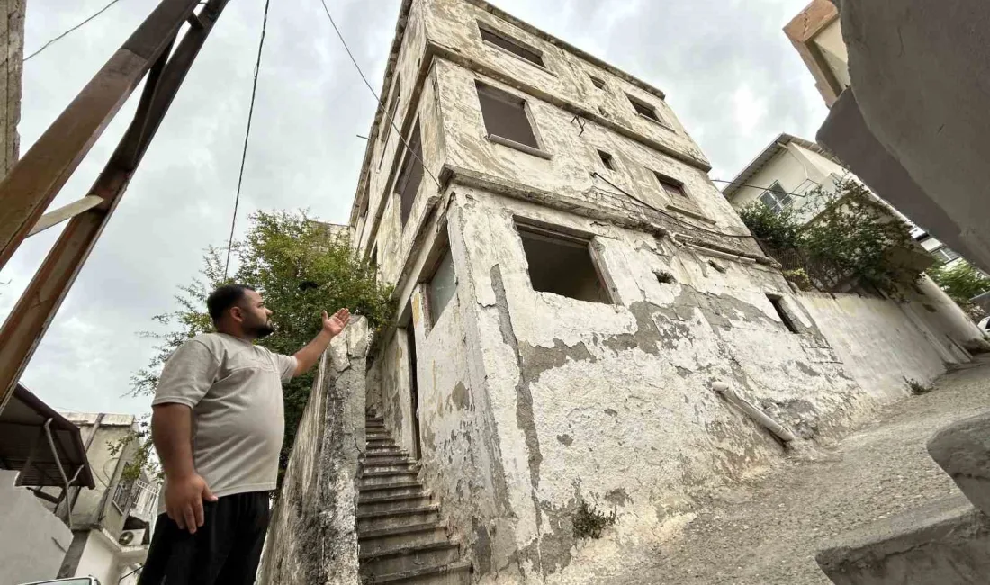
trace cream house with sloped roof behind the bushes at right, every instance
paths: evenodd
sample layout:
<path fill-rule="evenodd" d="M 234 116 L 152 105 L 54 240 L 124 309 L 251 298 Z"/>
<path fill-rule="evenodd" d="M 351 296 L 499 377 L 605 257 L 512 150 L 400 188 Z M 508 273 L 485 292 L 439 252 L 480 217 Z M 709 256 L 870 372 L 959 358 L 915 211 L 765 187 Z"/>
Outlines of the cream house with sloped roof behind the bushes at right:
<path fill-rule="evenodd" d="M 781 134 L 752 159 L 722 192 L 736 209 L 759 201 L 775 212 L 789 209 L 801 223 L 823 210 L 822 191 L 836 192 L 842 179 L 853 177 L 841 161 L 815 143 Z M 821 188 L 821 189 L 820 189 Z M 911 228 L 911 237 L 936 264 L 955 263 L 959 254 L 890 208 Z"/>

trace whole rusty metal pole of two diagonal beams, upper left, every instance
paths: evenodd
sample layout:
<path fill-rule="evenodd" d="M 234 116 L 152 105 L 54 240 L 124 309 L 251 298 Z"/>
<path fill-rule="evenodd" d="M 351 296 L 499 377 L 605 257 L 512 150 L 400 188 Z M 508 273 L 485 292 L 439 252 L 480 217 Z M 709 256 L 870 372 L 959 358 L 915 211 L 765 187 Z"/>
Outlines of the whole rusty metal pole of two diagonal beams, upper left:
<path fill-rule="evenodd" d="M 150 69 L 134 121 L 89 191 L 89 195 L 102 198 L 103 203 L 69 220 L 0 329 L 0 411 L 124 195 L 186 73 L 228 2 L 210 0 L 197 15 L 193 10 L 198 0 L 164 0 L 0 184 L 0 238 L 8 239 L 4 254 L 0 255 L 2 266 L 19 244 L 19 238 L 34 227 L 58 188 L 140 81 L 140 76 L 134 77 L 132 73 L 143 69 L 144 74 Z M 186 20 L 190 29 L 169 57 L 179 27 Z M 148 56 L 138 59 L 137 54 Z M 148 66 L 135 63 L 136 59 L 145 62 L 152 56 Z M 121 62 L 130 63 L 131 72 L 124 74 L 119 67 Z M 112 99 L 113 96 L 116 98 Z M 56 140 L 59 133 L 66 134 L 67 144 Z M 84 135 L 88 139 L 83 140 Z M 12 207 L 17 209 L 11 211 Z"/>

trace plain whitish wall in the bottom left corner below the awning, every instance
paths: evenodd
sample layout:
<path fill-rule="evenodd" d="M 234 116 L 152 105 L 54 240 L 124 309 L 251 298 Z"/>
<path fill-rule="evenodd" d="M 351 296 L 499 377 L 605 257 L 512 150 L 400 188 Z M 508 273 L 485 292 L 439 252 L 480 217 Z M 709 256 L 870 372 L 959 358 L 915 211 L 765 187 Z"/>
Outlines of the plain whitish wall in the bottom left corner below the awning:
<path fill-rule="evenodd" d="M 34 494 L 0 470 L 0 585 L 54 579 L 72 533 Z"/>

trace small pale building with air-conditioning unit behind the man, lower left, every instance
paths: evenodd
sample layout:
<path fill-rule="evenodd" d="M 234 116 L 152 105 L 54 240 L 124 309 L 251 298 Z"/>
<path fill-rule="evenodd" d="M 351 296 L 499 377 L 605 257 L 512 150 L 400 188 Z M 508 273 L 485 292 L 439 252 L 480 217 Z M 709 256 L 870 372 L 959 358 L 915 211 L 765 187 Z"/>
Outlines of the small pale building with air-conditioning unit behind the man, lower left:
<path fill-rule="evenodd" d="M 62 506 L 72 515 L 72 543 L 59 577 L 91 575 L 100 583 L 137 582 L 148 555 L 148 542 L 157 517 L 156 482 L 143 473 L 124 481 L 125 466 L 134 458 L 138 422 L 133 415 L 62 413 L 82 433 L 86 456 L 96 478 L 95 489 L 77 489 Z M 130 439 L 119 452 L 113 445 Z"/>

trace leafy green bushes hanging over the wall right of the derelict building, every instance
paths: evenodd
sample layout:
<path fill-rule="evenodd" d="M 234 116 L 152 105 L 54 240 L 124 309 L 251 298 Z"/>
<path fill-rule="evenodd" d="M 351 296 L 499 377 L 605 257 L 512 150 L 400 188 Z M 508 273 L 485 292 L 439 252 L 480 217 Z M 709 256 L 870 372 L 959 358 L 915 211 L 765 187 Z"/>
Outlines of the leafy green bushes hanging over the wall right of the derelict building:
<path fill-rule="evenodd" d="M 802 212 L 815 216 L 804 226 L 791 209 L 774 214 L 759 202 L 740 213 L 753 236 L 792 260 L 782 260 L 788 271 L 800 278 L 796 271 L 803 270 L 813 284 L 827 289 L 855 283 L 887 293 L 918 279 L 920 270 L 905 261 L 913 248 L 907 224 L 866 187 L 843 179 L 835 191 L 819 187 L 807 197 L 813 203 Z"/>

